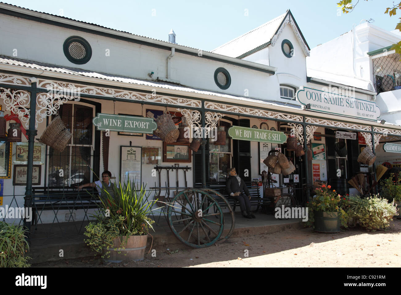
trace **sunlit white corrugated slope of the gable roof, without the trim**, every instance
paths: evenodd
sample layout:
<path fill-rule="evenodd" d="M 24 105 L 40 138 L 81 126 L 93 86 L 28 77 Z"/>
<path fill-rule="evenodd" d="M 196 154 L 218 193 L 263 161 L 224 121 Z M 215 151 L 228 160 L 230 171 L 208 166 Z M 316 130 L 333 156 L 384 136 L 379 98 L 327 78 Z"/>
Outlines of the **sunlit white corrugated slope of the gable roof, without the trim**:
<path fill-rule="evenodd" d="M 258 26 L 252 31 L 213 49 L 211 52 L 230 57 L 239 57 L 263 44 L 269 43 L 287 13 L 288 10 L 286 13 Z"/>

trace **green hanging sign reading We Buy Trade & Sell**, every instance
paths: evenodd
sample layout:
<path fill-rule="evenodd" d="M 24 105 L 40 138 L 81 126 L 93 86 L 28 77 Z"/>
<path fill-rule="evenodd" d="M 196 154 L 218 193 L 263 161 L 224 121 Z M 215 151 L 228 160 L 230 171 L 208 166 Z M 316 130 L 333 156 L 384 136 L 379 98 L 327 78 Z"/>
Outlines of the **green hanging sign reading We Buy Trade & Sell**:
<path fill-rule="evenodd" d="M 282 144 L 287 140 L 287 136 L 284 134 L 284 132 L 239 126 L 230 127 L 228 134 L 233 139 L 257 142 L 272 142 Z"/>

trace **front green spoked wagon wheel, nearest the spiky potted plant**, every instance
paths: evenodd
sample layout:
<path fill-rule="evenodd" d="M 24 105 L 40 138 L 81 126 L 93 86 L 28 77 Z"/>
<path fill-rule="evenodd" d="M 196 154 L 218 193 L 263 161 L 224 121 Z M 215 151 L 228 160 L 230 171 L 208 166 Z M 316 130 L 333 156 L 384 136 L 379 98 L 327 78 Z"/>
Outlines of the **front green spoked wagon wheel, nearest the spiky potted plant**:
<path fill-rule="evenodd" d="M 171 203 L 167 211 L 168 225 L 178 240 L 193 248 L 205 248 L 219 240 L 224 228 L 223 210 L 208 192 L 185 189 Z M 213 206 L 216 212 L 209 213 Z M 175 219 L 173 213 L 180 214 L 180 218 Z M 212 220 L 213 216 L 219 218 Z"/>

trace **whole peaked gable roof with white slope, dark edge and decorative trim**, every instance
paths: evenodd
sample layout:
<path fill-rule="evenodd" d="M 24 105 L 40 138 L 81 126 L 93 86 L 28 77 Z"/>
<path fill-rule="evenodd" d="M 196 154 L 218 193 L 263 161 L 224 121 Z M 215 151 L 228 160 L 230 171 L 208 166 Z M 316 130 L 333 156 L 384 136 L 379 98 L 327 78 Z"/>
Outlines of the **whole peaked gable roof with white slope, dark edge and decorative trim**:
<path fill-rule="evenodd" d="M 282 33 L 282 29 L 288 23 L 291 24 L 295 35 L 298 37 L 298 41 L 304 43 L 303 47 L 305 55 L 309 56 L 310 48 L 308 43 L 306 43 L 304 35 L 302 35 L 302 32 L 290 10 L 287 10 L 286 13 L 258 26 L 252 31 L 213 49 L 211 52 L 229 57 L 244 58 L 247 55 L 269 46 L 270 44 L 274 46 L 275 41 Z"/>

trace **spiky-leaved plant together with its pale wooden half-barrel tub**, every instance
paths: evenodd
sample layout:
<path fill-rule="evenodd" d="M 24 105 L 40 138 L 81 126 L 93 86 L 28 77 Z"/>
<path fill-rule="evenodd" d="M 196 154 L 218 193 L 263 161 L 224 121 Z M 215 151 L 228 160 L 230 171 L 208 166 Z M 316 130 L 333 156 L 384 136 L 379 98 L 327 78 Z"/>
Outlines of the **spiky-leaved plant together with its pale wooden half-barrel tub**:
<path fill-rule="evenodd" d="M 85 227 L 88 238 L 84 241 L 108 262 L 143 260 L 148 230 L 153 230 L 154 223 L 147 215 L 156 201 L 146 201 L 145 188 L 130 181 L 123 185 L 120 182 L 113 193 L 114 197 L 103 190 L 105 197 L 95 215 L 97 222 Z"/>

